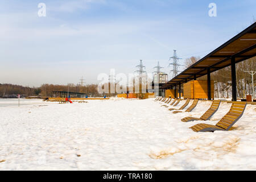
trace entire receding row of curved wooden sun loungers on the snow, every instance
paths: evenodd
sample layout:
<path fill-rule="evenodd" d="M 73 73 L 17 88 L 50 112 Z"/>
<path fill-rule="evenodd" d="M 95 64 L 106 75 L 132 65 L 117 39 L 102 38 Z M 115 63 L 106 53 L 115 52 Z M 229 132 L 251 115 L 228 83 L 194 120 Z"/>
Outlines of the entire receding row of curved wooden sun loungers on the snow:
<path fill-rule="evenodd" d="M 156 98 L 155 101 L 162 101 L 162 102 L 166 102 L 166 104 L 170 103 L 172 98 Z M 177 102 L 176 102 L 177 101 Z M 193 104 L 191 106 L 188 107 L 187 110 L 185 110 L 185 112 L 191 112 L 197 105 L 199 100 L 194 100 Z M 174 104 L 176 102 L 176 104 Z M 170 104 L 173 106 L 177 106 L 177 104 L 179 104 L 180 99 L 177 100 L 177 98 L 174 99 L 174 101 Z M 187 107 L 187 105 L 189 104 L 190 100 L 187 99 L 185 104 L 183 106 L 181 106 L 179 109 L 174 109 L 171 108 L 169 109 L 170 111 L 172 110 L 176 110 L 173 111 L 174 114 L 176 113 L 181 113 L 183 109 L 185 109 L 185 107 Z M 207 121 L 208 119 L 210 119 L 214 113 L 216 113 L 216 111 L 218 110 L 218 107 L 220 106 L 221 101 L 220 100 L 214 100 L 212 101 L 212 105 L 209 107 L 209 109 L 207 111 L 205 111 L 205 113 L 203 115 L 201 115 L 200 118 L 195 118 L 195 117 L 185 117 L 183 119 L 181 119 L 182 122 L 190 122 L 190 121 Z M 162 106 L 166 106 L 167 105 L 162 105 Z M 232 102 L 232 106 L 230 108 L 230 110 L 228 111 L 228 113 L 220 119 L 220 121 L 216 124 L 216 125 L 208 125 L 205 123 L 200 123 L 197 125 L 194 125 L 192 127 L 190 127 L 190 129 L 192 129 L 193 131 L 196 132 L 203 132 L 203 131 L 216 131 L 216 130 L 225 130 L 228 131 L 232 128 L 232 126 L 234 125 L 234 123 L 236 123 L 238 121 L 238 119 L 240 119 L 242 117 L 243 111 L 245 110 L 246 107 L 246 102 Z"/>

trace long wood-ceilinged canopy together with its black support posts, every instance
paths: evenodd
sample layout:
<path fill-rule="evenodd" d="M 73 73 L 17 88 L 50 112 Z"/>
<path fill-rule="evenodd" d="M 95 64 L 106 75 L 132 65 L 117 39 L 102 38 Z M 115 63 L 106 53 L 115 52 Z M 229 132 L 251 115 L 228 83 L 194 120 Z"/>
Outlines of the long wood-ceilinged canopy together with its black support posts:
<path fill-rule="evenodd" d="M 210 100 L 212 98 L 211 90 L 213 89 L 210 73 L 231 66 L 232 101 L 237 101 L 236 64 L 254 56 L 256 56 L 256 22 L 228 40 L 228 42 L 208 53 L 195 64 L 192 64 L 166 84 L 160 86 L 160 89 L 176 89 L 179 86 L 180 90 L 181 84 L 186 84 L 191 80 L 196 81 L 197 78 L 207 75 L 207 90 L 202 89 L 207 93 Z M 195 85 L 193 88 L 195 88 Z M 197 92 L 191 93 L 197 94 Z M 194 97 L 199 96 L 194 95 Z"/>

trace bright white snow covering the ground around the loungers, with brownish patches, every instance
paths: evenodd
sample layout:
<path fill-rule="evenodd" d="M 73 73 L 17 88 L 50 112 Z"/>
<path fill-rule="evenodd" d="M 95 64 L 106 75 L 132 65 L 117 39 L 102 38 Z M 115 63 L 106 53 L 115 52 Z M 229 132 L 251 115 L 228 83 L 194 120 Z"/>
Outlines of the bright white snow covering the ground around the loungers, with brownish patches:
<path fill-rule="evenodd" d="M 195 133 L 189 127 L 200 121 L 180 119 L 200 117 L 209 101 L 178 114 L 152 99 L 26 102 L 0 107 L 0 170 L 256 169 L 256 105 L 232 131 Z M 204 123 L 216 124 L 230 105 Z"/>

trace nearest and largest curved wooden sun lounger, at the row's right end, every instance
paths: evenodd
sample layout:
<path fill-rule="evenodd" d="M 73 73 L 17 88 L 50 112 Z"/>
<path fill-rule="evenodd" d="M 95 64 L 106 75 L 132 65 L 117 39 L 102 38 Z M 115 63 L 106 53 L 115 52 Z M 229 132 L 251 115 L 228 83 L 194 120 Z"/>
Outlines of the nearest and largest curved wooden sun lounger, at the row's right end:
<path fill-rule="evenodd" d="M 234 125 L 234 123 L 236 123 L 238 119 L 241 118 L 243 111 L 245 111 L 245 107 L 246 102 L 232 102 L 232 106 L 228 113 L 226 113 L 226 115 L 221 118 L 221 120 L 216 125 L 200 123 L 189 128 L 196 132 L 216 130 L 228 131 Z"/>

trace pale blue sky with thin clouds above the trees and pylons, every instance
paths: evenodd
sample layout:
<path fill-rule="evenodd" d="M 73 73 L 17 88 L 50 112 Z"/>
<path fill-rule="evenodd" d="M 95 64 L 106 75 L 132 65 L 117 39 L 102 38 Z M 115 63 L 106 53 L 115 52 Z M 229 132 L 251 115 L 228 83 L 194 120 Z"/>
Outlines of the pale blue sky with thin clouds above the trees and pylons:
<path fill-rule="evenodd" d="M 217 17 L 208 15 L 212 2 Z M 141 59 L 148 73 L 157 61 L 169 73 L 174 49 L 181 64 L 203 57 L 250 26 L 255 12 L 255 0 L 1 0 L 0 83 L 97 83 L 111 68 L 133 73 Z"/>

